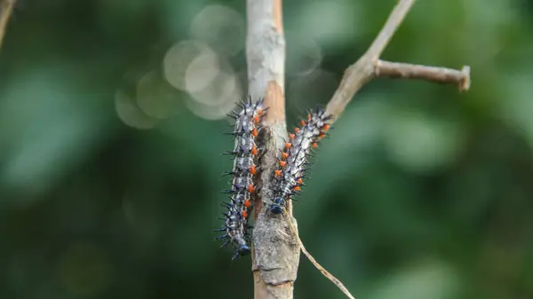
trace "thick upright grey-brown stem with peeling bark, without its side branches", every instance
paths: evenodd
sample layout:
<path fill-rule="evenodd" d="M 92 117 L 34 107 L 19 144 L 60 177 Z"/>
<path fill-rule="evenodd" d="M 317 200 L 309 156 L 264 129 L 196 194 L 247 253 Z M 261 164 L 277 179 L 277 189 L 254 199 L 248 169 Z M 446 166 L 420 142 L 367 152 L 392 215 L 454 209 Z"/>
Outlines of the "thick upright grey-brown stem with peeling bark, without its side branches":
<path fill-rule="evenodd" d="M 248 29 L 246 61 L 251 98 L 265 98 L 268 108 L 263 121 L 260 160 L 260 200 L 254 203 L 251 269 L 256 299 L 292 298 L 299 261 L 298 241 L 283 217 L 269 213 L 272 203 L 276 154 L 287 138 L 285 124 L 285 40 L 282 28 L 282 0 L 247 0 Z"/>

